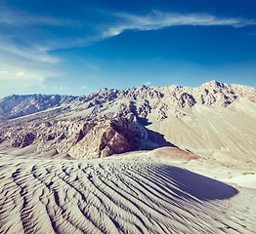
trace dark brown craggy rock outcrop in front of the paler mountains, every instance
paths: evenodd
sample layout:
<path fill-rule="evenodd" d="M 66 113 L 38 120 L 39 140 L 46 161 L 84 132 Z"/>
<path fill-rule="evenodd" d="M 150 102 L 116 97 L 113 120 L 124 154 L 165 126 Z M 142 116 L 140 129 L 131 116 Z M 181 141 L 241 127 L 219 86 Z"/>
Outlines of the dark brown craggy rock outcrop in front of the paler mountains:
<path fill-rule="evenodd" d="M 58 153 L 68 153 L 77 159 L 102 158 L 112 154 L 169 145 L 164 140 L 158 140 L 159 137 L 151 137 L 144 124 L 140 122 L 140 118 L 147 116 L 147 105 L 142 111 L 137 111 L 133 103 L 128 101 L 114 109 L 114 114 L 108 117 L 103 115 L 93 118 L 73 117 L 59 121 L 53 118 L 49 121 L 40 121 L 35 115 L 29 117 L 29 121 L 28 117 L 19 119 L 20 124 L 16 123 L 16 126 L 2 127 L 3 130 L 8 128 L 8 131 L 2 131 L 0 138 L 2 141 L 10 142 L 13 147 L 36 145 L 34 153 L 56 149 Z M 38 115 L 43 119 L 43 113 Z"/>

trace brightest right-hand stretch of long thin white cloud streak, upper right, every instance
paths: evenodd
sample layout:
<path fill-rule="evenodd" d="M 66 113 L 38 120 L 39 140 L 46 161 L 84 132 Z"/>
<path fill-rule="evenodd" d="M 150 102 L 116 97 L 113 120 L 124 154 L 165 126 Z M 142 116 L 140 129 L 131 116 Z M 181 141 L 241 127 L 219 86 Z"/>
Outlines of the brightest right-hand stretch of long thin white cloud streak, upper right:
<path fill-rule="evenodd" d="M 173 14 L 153 11 L 147 16 L 136 16 L 126 13 L 113 14 L 119 23 L 111 25 L 102 34 L 103 38 L 116 36 L 124 30 L 158 30 L 169 26 L 192 25 L 192 26 L 233 26 L 242 27 L 256 24 L 255 20 L 239 18 L 218 18 L 208 14 Z"/>

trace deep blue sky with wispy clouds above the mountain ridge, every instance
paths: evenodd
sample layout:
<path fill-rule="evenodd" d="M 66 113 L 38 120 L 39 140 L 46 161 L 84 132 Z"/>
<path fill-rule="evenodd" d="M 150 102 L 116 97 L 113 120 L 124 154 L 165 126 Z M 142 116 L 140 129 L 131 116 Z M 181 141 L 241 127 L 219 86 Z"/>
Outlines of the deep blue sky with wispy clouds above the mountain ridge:
<path fill-rule="evenodd" d="M 0 0 L 0 98 L 256 87 L 255 0 Z"/>

